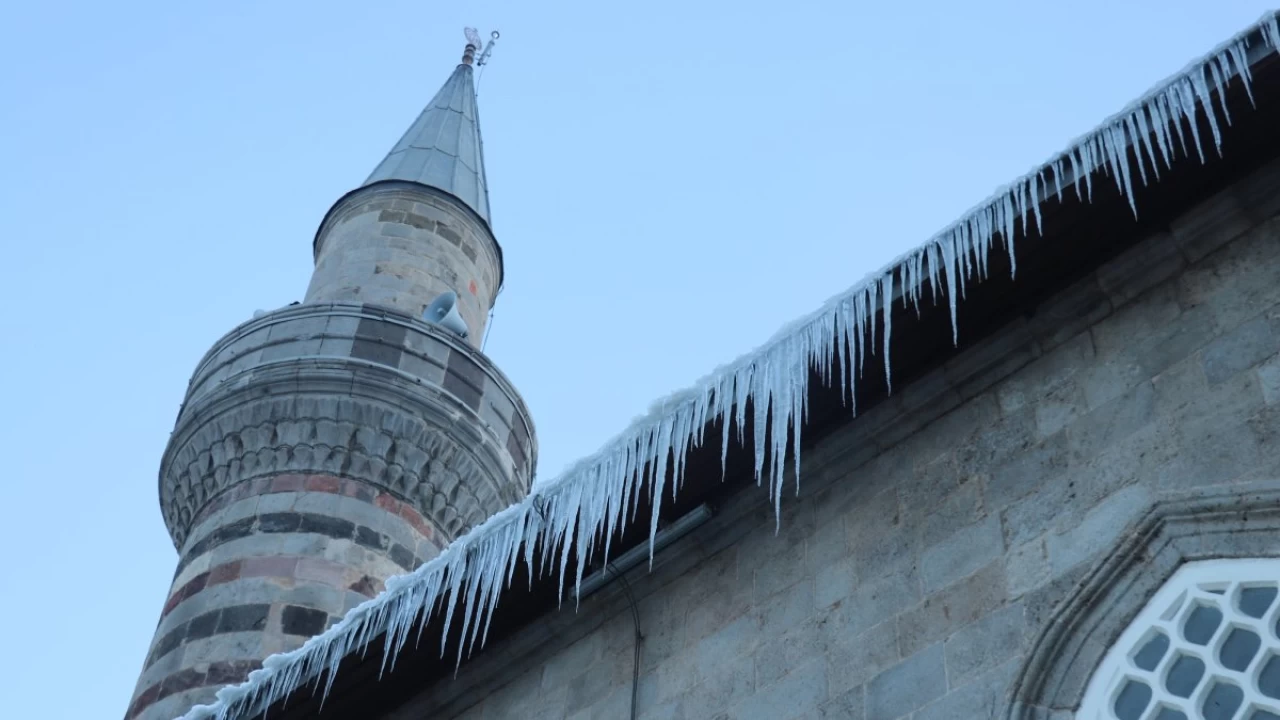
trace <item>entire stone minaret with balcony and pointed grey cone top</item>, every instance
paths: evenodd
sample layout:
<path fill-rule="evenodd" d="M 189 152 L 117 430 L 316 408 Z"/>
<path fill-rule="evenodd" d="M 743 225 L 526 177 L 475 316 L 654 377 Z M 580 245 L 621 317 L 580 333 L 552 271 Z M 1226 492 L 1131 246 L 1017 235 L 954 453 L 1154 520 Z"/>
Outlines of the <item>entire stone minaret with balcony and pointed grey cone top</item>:
<path fill-rule="evenodd" d="M 127 719 L 210 702 L 529 492 L 529 410 L 479 350 L 503 268 L 475 53 L 325 215 L 306 301 L 196 368 L 160 462 L 178 570 Z M 465 338 L 424 320 L 449 291 Z"/>

